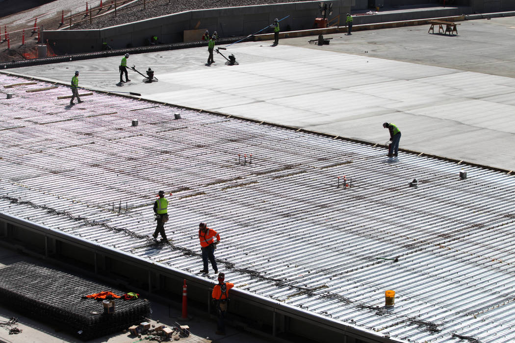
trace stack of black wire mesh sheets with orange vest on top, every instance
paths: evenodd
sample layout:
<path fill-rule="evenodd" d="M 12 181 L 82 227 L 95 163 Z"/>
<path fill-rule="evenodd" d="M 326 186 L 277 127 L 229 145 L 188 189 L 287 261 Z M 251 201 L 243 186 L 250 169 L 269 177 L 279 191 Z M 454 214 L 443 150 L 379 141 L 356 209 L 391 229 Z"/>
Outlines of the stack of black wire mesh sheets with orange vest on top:
<path fill-rule="evenodd" d="M 119 296 L 127 293 L 28 262 L 14 263 L 0 269 L 0 303 L 82 339 L 127 329 L 132 324 L 144 321 L 150 313 L 150 302 L 142 298 L 115 299 L 113 313 L 105 313 L 101 300 L 84 298 L 105 291 Z"/>

